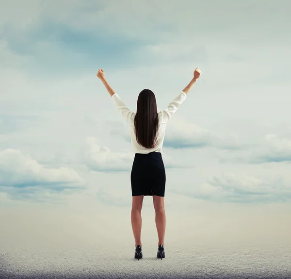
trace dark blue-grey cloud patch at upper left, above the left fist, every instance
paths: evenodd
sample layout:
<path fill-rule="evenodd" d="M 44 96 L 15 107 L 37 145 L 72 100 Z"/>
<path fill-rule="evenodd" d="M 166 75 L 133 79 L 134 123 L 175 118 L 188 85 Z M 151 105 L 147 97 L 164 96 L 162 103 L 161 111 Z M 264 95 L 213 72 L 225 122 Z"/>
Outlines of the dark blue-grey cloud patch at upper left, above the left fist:
<path fill-rule="evenodd" d="M 67 24 L 41 20 L 37 27 L 17 36 L 7 32 L 5 40 L 11 52 L 30 57 L 30 65 L 41 70 L 93 69 L 106 64 L 115 68 L 136 63 L 139 41 L 108 36 L 95 30 L 79 30 Z M 118 45 L 118 48 L 116 46 Z"/>

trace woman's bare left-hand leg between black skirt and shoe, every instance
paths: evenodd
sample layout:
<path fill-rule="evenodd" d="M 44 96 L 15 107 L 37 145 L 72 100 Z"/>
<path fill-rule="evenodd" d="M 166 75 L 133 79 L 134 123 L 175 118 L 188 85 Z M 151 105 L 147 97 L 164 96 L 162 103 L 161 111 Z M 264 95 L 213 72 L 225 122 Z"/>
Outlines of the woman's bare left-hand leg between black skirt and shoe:
<path fill-rule="evenodd" d="M 144 196 L 132 197 L 131 207 L 131 227 L 135 239 L 135 247 L 142 246 L 141 231 L 142 231 L 142 207 Z"/>

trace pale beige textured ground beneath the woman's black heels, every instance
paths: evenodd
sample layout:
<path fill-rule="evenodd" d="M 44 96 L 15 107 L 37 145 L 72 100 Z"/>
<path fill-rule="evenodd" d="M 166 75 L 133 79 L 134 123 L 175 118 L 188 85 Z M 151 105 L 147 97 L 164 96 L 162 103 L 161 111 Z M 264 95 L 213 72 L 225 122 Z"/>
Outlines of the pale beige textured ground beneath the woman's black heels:
<path fill-rule="evenodd" d="M 168 213 L 161 261 L 153 218 L 144 213 L 144 257 L 137 261 L 128 216 L 113 223 L 96 221 L 95 213 L 1 213 L 1 279 L 291 279 L 289 227 L 278 224 L 274 232 L 252 225 L 240 233 L 243 223 L 224 229 L 213 219 L 206 228 L 193 219 L 186 231 Z"/>

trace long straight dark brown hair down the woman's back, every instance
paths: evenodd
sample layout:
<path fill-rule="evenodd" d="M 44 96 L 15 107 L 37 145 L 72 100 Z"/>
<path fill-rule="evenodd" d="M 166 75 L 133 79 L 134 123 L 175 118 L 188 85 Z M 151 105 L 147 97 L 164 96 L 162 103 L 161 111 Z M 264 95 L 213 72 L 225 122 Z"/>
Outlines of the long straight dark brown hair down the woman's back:
<path fill-rule="evenodd" d="M 144 148 L 157 145 L 159 118 L 154 92 L 144 89 L 138 96 L 134 131 L 136 140 Z"/>

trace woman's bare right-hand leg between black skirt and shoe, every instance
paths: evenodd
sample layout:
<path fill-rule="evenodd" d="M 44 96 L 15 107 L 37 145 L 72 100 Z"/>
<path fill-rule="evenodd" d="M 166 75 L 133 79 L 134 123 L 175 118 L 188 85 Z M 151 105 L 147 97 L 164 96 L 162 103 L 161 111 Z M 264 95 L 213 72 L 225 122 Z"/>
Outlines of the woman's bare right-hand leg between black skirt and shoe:
<path fill-rule="evenodd" d="M 156 227 L 158 231 L 159 243 L 164 246 L 164 238 L 166 231 L 166 213 L 164 206 L 164 197 L 153 196 L 154 208 L 156 212 Z"/>

